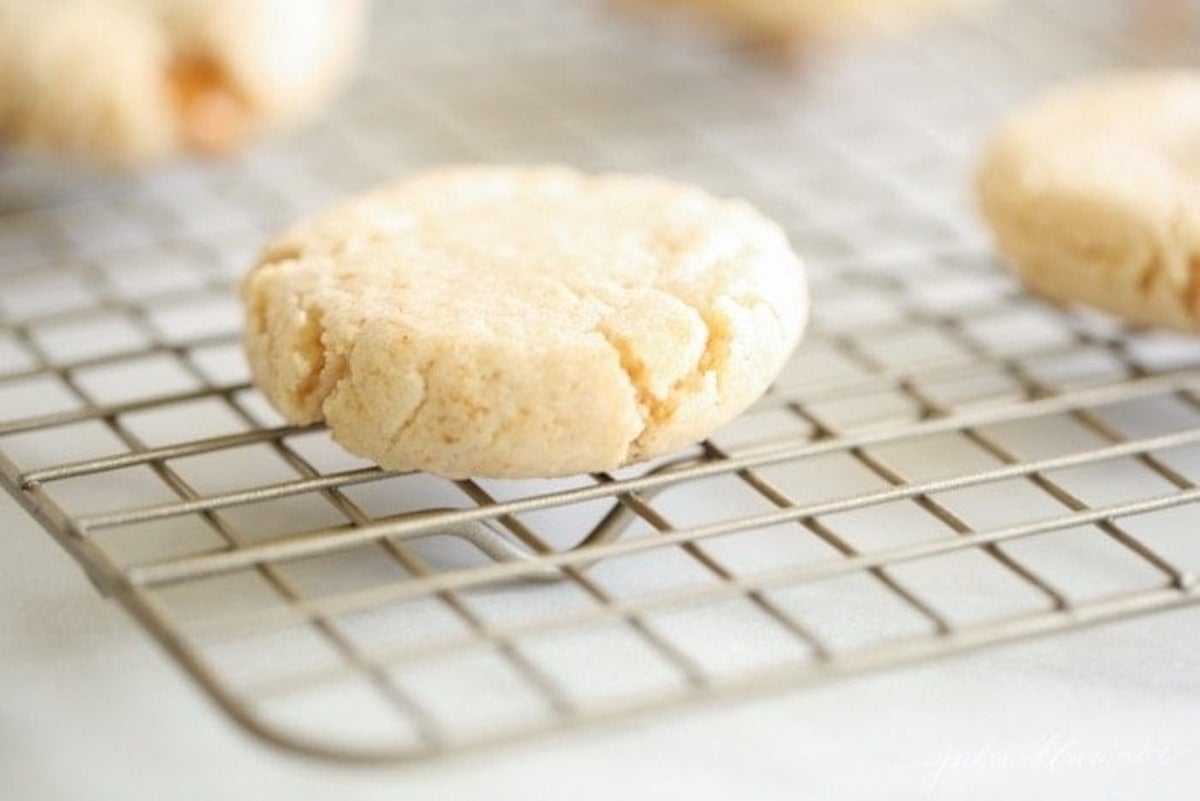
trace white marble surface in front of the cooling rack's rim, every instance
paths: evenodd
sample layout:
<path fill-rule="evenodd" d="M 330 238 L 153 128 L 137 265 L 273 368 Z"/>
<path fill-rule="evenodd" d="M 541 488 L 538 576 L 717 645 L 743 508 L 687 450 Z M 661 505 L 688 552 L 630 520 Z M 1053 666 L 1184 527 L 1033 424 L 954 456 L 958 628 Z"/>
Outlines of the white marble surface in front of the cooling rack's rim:
<path fill-rule="evenodd" d="M 1200 779 L 1200 610 L 647 727 L 343 767 L 236 730 L 7 496 L 0 531 L 2 799 L 1129 799 Z"/>

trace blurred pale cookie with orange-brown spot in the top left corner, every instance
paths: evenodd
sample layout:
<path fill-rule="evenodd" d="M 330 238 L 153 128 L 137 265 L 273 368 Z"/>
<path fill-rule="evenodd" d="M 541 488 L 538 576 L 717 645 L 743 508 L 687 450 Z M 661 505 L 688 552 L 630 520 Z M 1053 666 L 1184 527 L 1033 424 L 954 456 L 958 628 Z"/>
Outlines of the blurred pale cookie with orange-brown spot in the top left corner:
<path fill-rule="evenodd" d="M 0 0 L 0 140 L 95 162 L 224 152 L 347 73 L 362 0 Z"/>

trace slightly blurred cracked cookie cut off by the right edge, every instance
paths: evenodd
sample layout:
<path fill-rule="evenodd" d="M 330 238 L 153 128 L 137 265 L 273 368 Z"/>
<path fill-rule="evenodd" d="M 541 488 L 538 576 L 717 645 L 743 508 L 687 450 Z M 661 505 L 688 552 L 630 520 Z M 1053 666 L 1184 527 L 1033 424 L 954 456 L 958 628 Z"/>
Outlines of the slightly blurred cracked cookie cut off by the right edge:
<path fill-rule="evenodd" d="M 1200 330 L 1200 73 L 1050 91 L 991 141 L 978 194 L 1001 253 L 1034 291 Z"/>

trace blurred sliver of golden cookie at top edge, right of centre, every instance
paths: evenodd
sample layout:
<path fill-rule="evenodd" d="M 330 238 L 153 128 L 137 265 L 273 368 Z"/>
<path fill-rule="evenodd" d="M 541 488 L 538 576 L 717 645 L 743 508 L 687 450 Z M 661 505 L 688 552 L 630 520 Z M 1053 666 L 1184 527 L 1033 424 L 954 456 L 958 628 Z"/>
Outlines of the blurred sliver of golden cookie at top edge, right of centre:
<path fill-rule="evenodd" d="M 955 1 L 965 0 L 619 0 L 691 12 L 752 46 L 784 53 L 814 38 L 902 24 Z"/>

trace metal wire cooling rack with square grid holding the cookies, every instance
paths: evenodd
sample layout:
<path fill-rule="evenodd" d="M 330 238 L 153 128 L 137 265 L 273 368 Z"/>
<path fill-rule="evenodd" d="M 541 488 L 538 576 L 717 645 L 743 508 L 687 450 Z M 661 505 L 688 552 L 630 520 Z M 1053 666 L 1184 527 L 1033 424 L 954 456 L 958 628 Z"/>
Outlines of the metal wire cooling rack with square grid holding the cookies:
<path fill-rule="evenodd" d="M 240 723 L 414 759 L 1200 597 L 1200 348 L 1031 299 L 968 198 L 1000 112 L 1194 60 L 1186 18 L 1012 2 L 787 71 L 586 0 L 380 5 L 289 139 L 0 169 L 4 484 Z M 750 414 L 614 474 L 396 475 L 284 426 L 238 345 L 257 245 L 475 159 L 750 198 L 809 260 L 812 332 Z"/>

